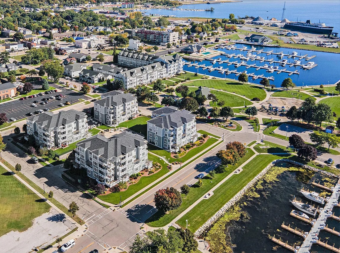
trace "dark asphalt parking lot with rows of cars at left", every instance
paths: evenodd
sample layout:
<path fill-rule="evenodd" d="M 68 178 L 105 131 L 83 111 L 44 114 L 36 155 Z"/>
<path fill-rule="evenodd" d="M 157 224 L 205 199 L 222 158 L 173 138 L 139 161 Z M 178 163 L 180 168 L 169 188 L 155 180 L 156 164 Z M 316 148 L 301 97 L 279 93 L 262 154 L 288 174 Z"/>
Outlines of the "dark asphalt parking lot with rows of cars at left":
<path fill-rule="evenodd" d="M 60 108 L 60 103 L 65 104 L 66 101 L 69 101 L 70 103 L 78 102 L 80 98 L 82 99 L 89 99 L 88 97 L 82 95 L 79 92 L 74 92 L 72 90 L 64 89 L 63 87 L 57 87 L 56 88 L 59 92 L 52 93 L 52 94 L 45 94 L 43 96 L 37 96 L 33 98 L 27 98 L 25 100 L 14 100 L 10 102 L 5 102 L 3 104 L 0 104 L 0 111 L 5 112 L 8 119 L 15 118 L 15 120 L 21 120 L 22 118 L 26 118 L 29 115 L 29 113 L 34 113 L 36 110 L 44 110 L 45 108 L 48 108 L 49 110 L 53 110 L 56 108 Z M 41 105 L 40 102 L 42 102 L 43 98 L 48 98 L 50 96 L 56 96 L 58 94 L 63 95 L 63 100 L 57 100 L 57 99 L 50 99 L 48 101 L 48 104 Z M 36 107 L 33 107 L 33 102 L 37 100 L 39 101 L 38 104 L 36 104 Z M 46 101 L 45 101 L 46 102 Z M 65 109 L 67 110 L 67 109 Z"/>

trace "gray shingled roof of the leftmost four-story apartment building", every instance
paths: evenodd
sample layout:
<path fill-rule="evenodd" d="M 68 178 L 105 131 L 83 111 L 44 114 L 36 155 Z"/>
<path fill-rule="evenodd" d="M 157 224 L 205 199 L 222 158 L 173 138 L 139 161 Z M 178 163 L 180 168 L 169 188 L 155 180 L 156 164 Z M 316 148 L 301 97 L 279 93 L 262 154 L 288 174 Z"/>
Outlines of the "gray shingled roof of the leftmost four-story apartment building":
<path fill-rule="evenodd" d="M 29 117 L 28 120 L 36 122 L 40 126 L 51 129 L 53 127 L 65 126 L 69 123 L 86 117 L 86 113 L 71 109 L 68 111 L 60 111 L 57 114 L 54 114 L 53 112 L 44 112 Z"/>

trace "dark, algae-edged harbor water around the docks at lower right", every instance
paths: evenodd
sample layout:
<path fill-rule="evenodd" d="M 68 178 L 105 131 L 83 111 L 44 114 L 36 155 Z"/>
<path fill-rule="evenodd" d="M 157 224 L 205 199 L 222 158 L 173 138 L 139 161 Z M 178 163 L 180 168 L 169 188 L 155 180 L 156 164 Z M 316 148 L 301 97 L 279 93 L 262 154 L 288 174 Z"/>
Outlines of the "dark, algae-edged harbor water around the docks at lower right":
<path fill-rule="evenodd" d="M 335 178 L 324 176 L 320 173 L 308 170 L 296 171 L 296 168 L 288 169 L 290 165 L 284 163 L 279 166 L 280 168 L 274 167 L 273 169 L 280 171 L 278 175 L 270 172 L 267 177 L 265 176 L 264 180 L 259 182 L 252 191 L 248 192 L 237 203 L 240 207 L 238 212 L 241 214 L 239 219 L 226 221 L 224 224 L 225 241 L 227 241 L 228 245 L 232 245 L 234 253 L 265 253 L 273 252 L 273 250 L 278 253 L 290 252 L 272 242 L 270 236 L 273 235 L 275 235 L 275 238 L 281 238 L 284 242 L 288 241 L 292 246 L 294 243 L 296 246 L 301 245 L 302 237 L 294 235 L 281 227 L 283 222 L 287 226 L 290 224 L 292 228 L 297 227 L 305 232 L 309 232 L 311 227 L 307 223 L 290 216 L 290 212 L 295 208 L 291 206 L 289 200 L 295 195 L 297 200 L 301 199 L 305 203 L 311 204 L 311 201 L 301 197 L 299 190 L 302 186 L 305 189 L 321 193 L 324 190 L 311 185 L 314 179 L 315 181 L 321 180 L 323 183 L 335 183 Z M 283 169 L 285 166 L 287 166 L 287 169 Z M 316 204 L 315 206 L 317 207 L 318 205 Z M 337 210 L 336 214 L 338 212 Z M 335 227 L 335 230 L 340 231 L 340 222 L 327 220 L 327 224 L 330 228 Z M 214 227 L 207 235 L 208 238 L 211 238 L 211 236 L 214 237 Z M 339 237 L 328 232 L 320 233 L 319 237 L 324 242 L 328 240 L 330 245 L 335 243 L 339 248 Z M 215 240 L 213 243 L 219 243 L 219 240 Z M 222 251 L 221 247 L 219 249 L 220 252 L 231 252 L 228 250 Z M 330 253 L 330 251 L 317 246 L 313 246 L 312 249 L 313 251 L 311 252 L 313 253 Z"/>

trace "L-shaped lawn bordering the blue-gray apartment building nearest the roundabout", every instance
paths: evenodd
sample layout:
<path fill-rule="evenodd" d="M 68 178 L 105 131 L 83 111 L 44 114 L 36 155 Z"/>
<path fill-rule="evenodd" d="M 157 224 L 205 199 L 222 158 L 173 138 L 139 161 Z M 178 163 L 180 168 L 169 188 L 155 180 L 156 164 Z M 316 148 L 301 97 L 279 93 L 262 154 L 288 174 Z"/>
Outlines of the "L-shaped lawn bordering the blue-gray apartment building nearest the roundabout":
<path fill-rule="evenodd" d="M 194 147 L 191 148 L 184 156 L 176 159 L 176 158 L 172 158 L 171 157 L 171 153 L 161 149 L 159 147 L 156 147 L 154 145 L 149 144 L 148 145 L 148 150 L 149 152 L 152 152 L 158 156 L 163 156 L 165 157 L 170 163 L 171 162 L 180 162 L 182 160 L 182 163 L 186 162 L 187 160 L 189 160 L 191 157 L 197 155 L 198 153 L 200 153 L 201 151 L 203 151 L 204 149 L 206 149 L 207 147 L 209 147 L 210 145 L 214 144 L 215 142 L 217 142 L 218 140 L 215 138 L 209 138 L 203 145 L 198 146 L 198 147 Z"/>

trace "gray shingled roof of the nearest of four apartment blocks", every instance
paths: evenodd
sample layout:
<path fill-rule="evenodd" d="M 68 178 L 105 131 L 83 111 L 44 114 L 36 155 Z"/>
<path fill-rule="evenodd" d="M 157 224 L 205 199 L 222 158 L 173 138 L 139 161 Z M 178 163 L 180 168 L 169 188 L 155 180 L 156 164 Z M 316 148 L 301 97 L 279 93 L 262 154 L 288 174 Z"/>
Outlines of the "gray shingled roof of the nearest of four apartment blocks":
<path fill-rule="evenodd" d="M 146 143 L 147 141 L 142 136 L 124 131 L 108 139 L 102 135 L 95 135 L 78 142 L 77 146 L 86 148 L 98 156 L 111 159 L 127 154 Z"/>

